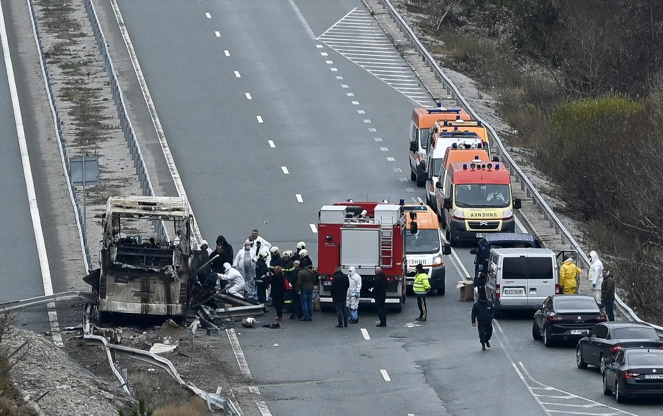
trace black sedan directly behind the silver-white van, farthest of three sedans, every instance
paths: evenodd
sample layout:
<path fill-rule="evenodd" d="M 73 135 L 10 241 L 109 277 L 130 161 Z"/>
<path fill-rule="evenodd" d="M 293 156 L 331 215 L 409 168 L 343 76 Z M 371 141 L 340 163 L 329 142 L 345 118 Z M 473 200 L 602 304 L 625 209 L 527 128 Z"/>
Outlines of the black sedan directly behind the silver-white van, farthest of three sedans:
<path fill-rule="evenodd" d="M 552 346 L 554 340 L 573 340 L 587 336 L 596 324 L 608 320 L 594 298 L 587 295 L 549 296 L 534 314 L 532 338 Z"/>

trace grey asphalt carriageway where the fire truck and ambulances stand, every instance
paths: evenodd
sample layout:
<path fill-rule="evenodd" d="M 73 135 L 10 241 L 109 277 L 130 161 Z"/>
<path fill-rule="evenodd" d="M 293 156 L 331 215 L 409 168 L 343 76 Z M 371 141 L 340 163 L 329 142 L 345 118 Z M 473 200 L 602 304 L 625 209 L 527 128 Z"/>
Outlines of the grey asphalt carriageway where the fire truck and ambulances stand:
<path fill-rule="evenodd" d="M 224 234 L 237 249 L 259 228 L 281 249 L 304 240 L 314 251 L 311 224 L 323 204 L 424 197 L 409 180 L 406 137 L 416 100 L 430 97 L 385 80 L 411 80 L 406 69 L 365 68 L 367 58 L 388 63 L 396 49 L 357 47 L 363 24 L 345 21 L 357 50 L 343 53 L 352 60 L 316 39 L 353 10 L 357 23 L 377 27 L 363 19 L 361 3 L 121 0 L 119 7 L 208 240 Z M 471 303 L 455 289 L 472 258 L 467 247 L 454 252 L 447 295 L 430 297 L 424 324 L 414 322 L 410 298 L 402 313 L 389 314 L 388 328 L 375 328 L 365 310 L 350 328 L 316 313 L 282 330 L 239 330 L 251 383 L 271 413 L 660 415 L 660 403 L 617 405 L 603 396 L 599 374 L 575 368 L 572 346 L 532 340 L 531 315 L 497 320 L 493 348 L 482 352 Z M 221 354 L 235 363 L 230 348 Z"/>

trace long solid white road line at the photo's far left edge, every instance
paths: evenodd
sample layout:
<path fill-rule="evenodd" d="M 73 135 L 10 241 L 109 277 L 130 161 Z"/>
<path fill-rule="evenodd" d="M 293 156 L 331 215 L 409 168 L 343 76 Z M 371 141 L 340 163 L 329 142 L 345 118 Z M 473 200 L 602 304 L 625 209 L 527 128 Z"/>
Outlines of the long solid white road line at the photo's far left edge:
<path fill-rule="evenodd" d="M 5 27 L 5 14 L 0 4 L 0 36 L 2 38 L 2 53 L 5 57 L 5 68 L 7 70 L 7 80 L 9 82 L 9 94 L 11 96 L 11 106 L 14 110 L 14 123 L 16 124 L 16 135 L 19 138 L 19 149 L 21 150 L 21 163 L 23 164 L 23 177 L 25 178 L 25 187 L 28 193 L 28 204 L 30 206 L 30 218 L 32 218 L 32 231 L 37 247 L 39 257 L 39 267 L 42 272 L 42 285 L 44 285 L 44 295 L 53 294 L 53 283 L 50 278 L 50 267 L 48 266 L 48 253 L 46 253 L 46 242 L 44 242 L 44 232 L 41 227 L 41 218 L 39 215 L 39 206 L 37 196 L 34 190 L 34 181 L 32 180 L 32 167 L 30 167 L 30 155 L 28 154 L 28 145 L 25 139 L 25 130 L 23 129 L 23 115 L 21 114 L 21 104 L 19 102 L 19 92 L 16 88 L 16 78 L 14 76 L 14 66 L 11 62 L 11 52 L 9 50 L 9 40 L 7 39 L 7 28 Z M 48 321 L 53 333 L 53 342 L 57 346 L 63 346 L 60 328 L 58 326 L 58 313 L 55 310 L 55 303 L 46 305 L 48 309 Z"/>

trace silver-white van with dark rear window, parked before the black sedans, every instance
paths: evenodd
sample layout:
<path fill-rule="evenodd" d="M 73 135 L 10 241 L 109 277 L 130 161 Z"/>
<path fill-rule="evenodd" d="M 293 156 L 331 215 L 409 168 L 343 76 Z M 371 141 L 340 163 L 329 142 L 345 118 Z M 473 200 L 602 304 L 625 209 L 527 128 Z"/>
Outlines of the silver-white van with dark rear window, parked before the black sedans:
<path fill-rule="evenodd" d="M 547 248 L 491 249 L 486 295 L 495 311 L 538 309 L 562 293 L 554 251 Z"/>

